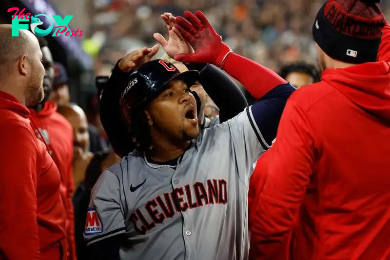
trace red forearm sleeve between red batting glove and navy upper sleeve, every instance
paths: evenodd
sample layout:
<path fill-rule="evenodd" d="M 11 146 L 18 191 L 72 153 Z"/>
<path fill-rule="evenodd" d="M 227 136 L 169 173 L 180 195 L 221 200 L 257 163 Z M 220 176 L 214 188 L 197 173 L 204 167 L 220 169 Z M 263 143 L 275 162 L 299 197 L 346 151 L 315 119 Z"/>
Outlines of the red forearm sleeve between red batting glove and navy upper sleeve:
<path fill-rule="evenodd" d="M 286 80 L 283 80 L 269 68 L 235 53 L 228 54 L 222 69 L 234 79 L 240 81 L 257 100 L 277 85 L 287 83 Z"/>

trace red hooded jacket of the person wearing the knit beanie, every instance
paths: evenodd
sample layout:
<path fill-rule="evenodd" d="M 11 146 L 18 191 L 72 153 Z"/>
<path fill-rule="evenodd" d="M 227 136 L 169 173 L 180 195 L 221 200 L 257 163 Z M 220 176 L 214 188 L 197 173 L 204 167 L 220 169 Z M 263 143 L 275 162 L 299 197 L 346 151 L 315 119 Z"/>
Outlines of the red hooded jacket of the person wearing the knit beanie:
<path fill-rule="evenodd" d="M 251 259 L 273 259 L 292 228 L 293 259 L 390 259 L 389 63 L 327 69 L 295 91 L 269 153 Z"/>

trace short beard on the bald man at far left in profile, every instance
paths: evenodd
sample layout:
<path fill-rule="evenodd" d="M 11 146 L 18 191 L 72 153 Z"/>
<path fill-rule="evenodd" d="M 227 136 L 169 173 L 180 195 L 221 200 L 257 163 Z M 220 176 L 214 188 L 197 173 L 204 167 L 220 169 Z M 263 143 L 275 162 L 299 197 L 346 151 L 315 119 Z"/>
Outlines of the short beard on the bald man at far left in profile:
<path fill-rule="evenodd" d="M 43 76 L 34 68 L 25 88 L 26 106 L 34 106 L 44 98 Z"/>

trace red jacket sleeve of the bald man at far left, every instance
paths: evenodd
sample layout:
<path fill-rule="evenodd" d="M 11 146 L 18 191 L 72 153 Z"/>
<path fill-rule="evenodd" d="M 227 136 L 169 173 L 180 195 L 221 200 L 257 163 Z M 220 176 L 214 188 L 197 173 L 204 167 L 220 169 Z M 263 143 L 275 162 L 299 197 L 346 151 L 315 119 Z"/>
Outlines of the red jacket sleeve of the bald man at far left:
<path fill-rule="evenodd" d="M 27 128 L 7 130 L 0 130 L 0 258 L 38 260 L 36 190 L 40 155 Z"/>

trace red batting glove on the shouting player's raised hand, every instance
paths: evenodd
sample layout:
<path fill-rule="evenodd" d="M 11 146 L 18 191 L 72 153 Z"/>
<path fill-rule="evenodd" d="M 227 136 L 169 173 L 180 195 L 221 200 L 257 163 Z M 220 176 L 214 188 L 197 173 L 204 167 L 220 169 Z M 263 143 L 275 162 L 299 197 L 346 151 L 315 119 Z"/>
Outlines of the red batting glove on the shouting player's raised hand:
<path fill-rule="evenodd" d="M 185 11 L 184 18 L 177 17 L 175 27 L 181 33 L 184 40 L 189 42 L 195 53 L 180 53 L 175 60 L 194 63 L 211 63 L 221 67 L 226 56 L 232 52 L 228 45 L 222 42 L 209 21 L 201 11 L 195 15 Z"/>

